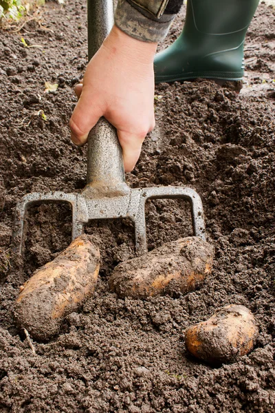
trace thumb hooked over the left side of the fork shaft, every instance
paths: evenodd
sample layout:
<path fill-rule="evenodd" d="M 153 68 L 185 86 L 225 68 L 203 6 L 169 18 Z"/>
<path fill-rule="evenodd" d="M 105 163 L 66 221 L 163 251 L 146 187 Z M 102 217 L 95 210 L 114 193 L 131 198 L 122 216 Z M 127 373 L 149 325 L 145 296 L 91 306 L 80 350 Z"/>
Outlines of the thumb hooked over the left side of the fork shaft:
<path fill-rule="evenodd" d="M 76 145 L 84 145 L 87 142 L 89 131 L 96 125 L 98 119 L 103 115 L 100 105 L 96 103 L 96 98 L 91 94 L 83 92 L 69 121 L 71 138 Z"/>

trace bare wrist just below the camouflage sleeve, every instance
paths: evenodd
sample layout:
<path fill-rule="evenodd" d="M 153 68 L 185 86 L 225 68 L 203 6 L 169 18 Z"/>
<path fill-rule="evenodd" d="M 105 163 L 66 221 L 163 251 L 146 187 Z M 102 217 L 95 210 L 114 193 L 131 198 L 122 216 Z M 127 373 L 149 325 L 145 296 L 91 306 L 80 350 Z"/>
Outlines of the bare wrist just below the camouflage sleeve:
<path fill-rule="evenodd" d="M 157 43 L 148 43 L 134 39 L 120 30 L 116 25 L 104 40 L 103 46 L 106 47 L 111 55 L 125 56 L 132 64 L 151 65 L 157 50 Z"/>

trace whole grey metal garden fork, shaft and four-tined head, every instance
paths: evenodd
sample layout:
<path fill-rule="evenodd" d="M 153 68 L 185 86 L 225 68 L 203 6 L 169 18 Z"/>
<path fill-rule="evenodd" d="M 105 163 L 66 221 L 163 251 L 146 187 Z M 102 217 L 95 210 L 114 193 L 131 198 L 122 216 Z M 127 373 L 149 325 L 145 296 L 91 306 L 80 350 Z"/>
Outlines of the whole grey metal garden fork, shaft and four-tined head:
<path fill-rule="evenodd" d="M 113 0 L 88 0 L 89 59 L 96 53 L 113 25 Z M 137 255 L 147 251 L 145 203 L 156 198 L 182 198 L 190 203 L 194 235 L 205 240 L 201 198 L 188 187 L 131 189 L 125 182 L 122 149 L 115 128 L 100 118 L 88 138 L 87 185 L 81 193 L 29 193 L 18 202 L 14 246 L 23 254 L 28 207 L 43 202 L 72 205 L 72 239 L 84 232 L 90 220 L 131 218 L 135 224 Z"/>

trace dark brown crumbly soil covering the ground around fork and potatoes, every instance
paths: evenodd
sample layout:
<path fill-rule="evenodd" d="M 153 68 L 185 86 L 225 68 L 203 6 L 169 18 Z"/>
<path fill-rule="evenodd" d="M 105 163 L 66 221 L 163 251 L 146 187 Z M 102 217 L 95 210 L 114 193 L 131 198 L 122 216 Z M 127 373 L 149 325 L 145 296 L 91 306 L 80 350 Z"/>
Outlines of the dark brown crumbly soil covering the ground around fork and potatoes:
<path fill-rule="evenodd" d="M 70 142 L 68 128 L 73 86 L 87 63 L 85 14 L 84 0 L 47 3 L 41 20 L 19 32 L 0 31 L 0 410 L 274 412 L 272 6 L 259 6 L 248 31 L 241 94 L 205 80 L 156 87 L 157 127 L 126 176 L 132 187 L 188 185 L 201 195 L 216 248 L 203 288 L 177 297 L 118 299 L 107 279 L 116 264 L 134 256 L 133 225 L 93 222 L 87 233 L 102 253 L 94 297 L 67 316 L 61 335 L 34 342 L 36 354 L 14 324 L 19 286 L 63 251 L 71 231 L 66 206 L 35 207 L 24 272 L 10 268 L 15 204 L 25 193 L 85 186 L 86 148 Z M 184 10 L 165 44 L 179 34 L 183 17 Z M 34 47 L 24 47 L 22 36 Z M 45 81 L 58 83 L 56 92 L 45 94 Z M 184 202 L 152 201 L 146 219 L 150 249 L 192 234 Z M 212 368 L 190 357 L 184 330 L 226 304 L 250 308 L 260 334 L 248 356 Z"/>

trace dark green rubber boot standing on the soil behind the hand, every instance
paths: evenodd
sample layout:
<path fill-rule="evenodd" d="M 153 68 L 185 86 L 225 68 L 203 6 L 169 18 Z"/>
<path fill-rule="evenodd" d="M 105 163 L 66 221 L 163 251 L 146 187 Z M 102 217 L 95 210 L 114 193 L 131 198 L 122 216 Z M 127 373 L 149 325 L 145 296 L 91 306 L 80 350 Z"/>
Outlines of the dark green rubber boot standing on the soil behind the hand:
<path fill-rule="evenodd" d="M 188 0 L 184 30 L 155 56 L 155 83 L 243 77 L 243 43 L 259 0 Z"/>

